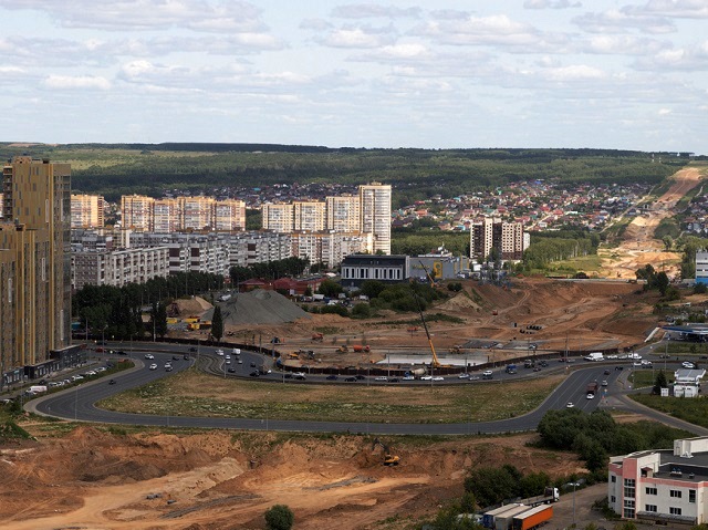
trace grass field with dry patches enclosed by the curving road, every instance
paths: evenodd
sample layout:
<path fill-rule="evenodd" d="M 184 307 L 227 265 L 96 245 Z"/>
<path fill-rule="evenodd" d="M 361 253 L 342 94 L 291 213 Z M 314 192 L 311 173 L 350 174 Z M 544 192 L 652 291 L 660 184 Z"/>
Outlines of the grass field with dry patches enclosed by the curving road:
<path fill-rule="evenodd" d="M 455 386 L 302 385 L 220 378 L 192 370 L 98 404 L 112 411 L 323 422 L 461 423 L 519 416 L 538 407 L 562 375 Z"/>

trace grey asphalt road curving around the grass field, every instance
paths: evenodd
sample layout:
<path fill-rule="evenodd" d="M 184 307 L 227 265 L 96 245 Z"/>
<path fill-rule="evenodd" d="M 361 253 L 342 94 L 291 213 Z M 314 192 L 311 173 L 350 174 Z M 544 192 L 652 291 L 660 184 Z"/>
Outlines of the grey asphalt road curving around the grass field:
<path fill-rule="evenodd" d="M 471 435 L 471 434 L 498 434 L 514 433 L 535 429 L 543 415 L 554 408 L 564 408 L 572 403 L 575 408 L 585 412 L 592 412 L 600 405 L 614 406 L 612 404 L 622 404 L 623 408 L 638 408 L 633 405 L 634 402 L 623 399 L 625 393 L 623 385 L 616 384 L 617 377 L 623 374 L 621 371 L 614 370 L 614 365 L 601 363 L 585 363 L 575 366 L 569 377 L 551 393 L 551 395 L 535 411 L 523 416 L 480 423 L 461 423 L 461 424 L 379 424 L 368 422 L 316 422 L 316 420 L 284 420 L 284 419 L 243 419 L 243 418 L 211 418 L 211 417 L 186 417 L 186 416 L 155 416 L 145 414 L 126 414 L 97 408 L 95 403 L 117 394 L 128 388 L 137 387 L 155 381 L 157 378 L 169 375 L 164 370 L 164 364 L 173 358 L 173 355 L 179 357 L 173 361 L 174 372 L 187 368 L 195 362 L 199 362 L 202 370 L 212 373 L 216 376 L 248 376 L 249 373 L 268 366 L 269 357 L 263 357 L 253 352 L 242 351 L 240 355 L 235 355 L 231 351 L 223 350 L 223 356 L 217 355 L 215 347 L 202 346 L 199 352 L 191 352 L 189 361 L 183 358 L 183 354 L 188 351 L 187 346 L 149 344 L 154 361 L 144 361 L 142 355 L 144 352 L 132 352 L 136 358 L 136 367 L 114 376 L 116 384 L 110 385 L 107 378 L 98 380 L 84 385 L 79 385 L 63 392 L 51 394 L 49 396 L 32 399 L 25 408 L 39 414 L 61 417 L 64 419 L 74 419 L 81 422 L 96 422 L 106 424 L 124 424 L 124 425 L 144 425 L 144 426 L 173 426 L 173 427 L 197 427 L 197 428 L 223 428 L 223 429 L 248 429 L 248 430 L 282 430 L 282 432 L 312 432 L 312 433 L 365 433 L 381 435 Z M 230 364 L 227 364 L 227 355 L 230 355 Z M 196 356 L 196 358 L 195 358 Z M 238 363 L 238 360 L 241 363 Z M 149 370 L 147 364 L 155 362 L 157 370 Z M 618 364 L 618 362 L 616 362 Z M 626 365 L 626 362 L 624 363 Z M 562 365 L 565 366 L 565 365 Z M 229 368 L 233 373 L 229 373 Z M 532 373 L 528 371 L 525 376 L 541 376 L 550 370 L 558 371 L 559 367 L 549 366 L 544 372 Z M 570 368 L 570 367 L 569 367 Z M 565 370 L 569 370 L 565 368 Z M 563 370 L 562 367 L 560 370 Z M 510 378 L 519 378 L 524 376 L 524 368 L 519 368 L 520 374 L 503 374 L 499 370 L 494 373 L 494 380 L 491 384 L 504 384 Z M 610 373 L 606 374 L 605 372 Z M 305 381 L 285 380 L 281 373 L 266 374 L 260 380 L 273 381 L 273 384 L 306 384 L 314 382 L 315 377 Z M 324 376 L 319 376 L 317 382 L 324 382 Z M 357 383 L 342 384 L 389 384 L 384 382 L 372 381 L 368 377 Z M 586 387 L 589 383 L 597 382 L 602 385 L 603 381 L 607 381 L 607 386 L 601 386 L 596 396 L 592 399 L 586 397 Z M 341 380 L 333 383 L 341 383 Z M 477 384 L 476 381 L 460 383 L 457 378 L 448 377 L 440 384 Z M 490 384 L 489 382 L 485 382 Z M 408 384 L 408 382 L 397 383 L 397 385 Z M 420 384 L 418 382 L 418 384 Z M 428 383 L 426 383 L 428 384 Z M 435 384 L 438 384 L 437 382 Z M 655 413 L 659 415 L 659 413 Z M 683 426 L 686 428 L 686 426 Z M 693 426 L 695 427 L 695 426 Z M 695 428 L 694 428 L 695 430 Z"/>

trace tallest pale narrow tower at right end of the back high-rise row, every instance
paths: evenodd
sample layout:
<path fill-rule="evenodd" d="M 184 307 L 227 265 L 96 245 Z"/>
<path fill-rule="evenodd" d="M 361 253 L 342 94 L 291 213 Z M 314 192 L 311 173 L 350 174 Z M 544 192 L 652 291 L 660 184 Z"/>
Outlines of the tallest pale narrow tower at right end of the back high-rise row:
<path fill-rule="evenodd" d="M 358 187 L 362 222 L 368 237 L 366 251 L 391 253 L 391 185 L 372 183 Z"/>

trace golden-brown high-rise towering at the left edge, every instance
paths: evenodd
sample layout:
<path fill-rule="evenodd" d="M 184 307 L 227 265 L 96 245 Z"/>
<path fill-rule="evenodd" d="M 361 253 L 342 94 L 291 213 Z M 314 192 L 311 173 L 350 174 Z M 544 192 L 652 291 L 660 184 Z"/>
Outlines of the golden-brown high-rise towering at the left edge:
<path fill-rule="evenodd" d="M 71 341 L 71 167 L 18 156 L 2 168 L 0 372 L 3 383 Z"/>

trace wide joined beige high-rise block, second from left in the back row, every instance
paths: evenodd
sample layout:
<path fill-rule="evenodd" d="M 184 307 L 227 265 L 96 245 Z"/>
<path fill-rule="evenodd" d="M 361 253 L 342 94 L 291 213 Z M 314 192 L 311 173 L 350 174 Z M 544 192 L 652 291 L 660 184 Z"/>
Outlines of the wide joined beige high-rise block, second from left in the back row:
<path fill-rule="evenodd" d="M 214 197 L 121 198 L 123 228 L 135 232 L 237 231 L 246 229 L 246 202 Z"/>

